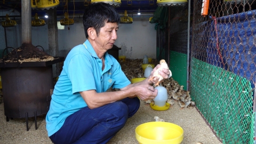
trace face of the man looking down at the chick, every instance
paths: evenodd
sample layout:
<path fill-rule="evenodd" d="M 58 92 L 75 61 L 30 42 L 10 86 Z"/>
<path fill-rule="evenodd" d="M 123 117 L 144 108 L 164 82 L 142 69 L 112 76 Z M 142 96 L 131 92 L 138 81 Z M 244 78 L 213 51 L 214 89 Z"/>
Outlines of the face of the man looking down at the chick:
<path fill-rule="evenodd" d="M 95 38 L 95 43 L 101 47 L 101 49 L 109 50 L 113 47 L 117 39 L 117 23 L 105 23 L 105 26 L 100 29 L 99 36 Z"/>

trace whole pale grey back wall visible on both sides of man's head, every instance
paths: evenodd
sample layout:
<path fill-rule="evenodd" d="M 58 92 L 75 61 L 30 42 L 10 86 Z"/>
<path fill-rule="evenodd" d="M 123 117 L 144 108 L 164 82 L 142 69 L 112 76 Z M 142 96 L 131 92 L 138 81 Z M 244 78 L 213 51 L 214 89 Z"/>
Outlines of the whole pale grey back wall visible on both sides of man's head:
<path fill-rule="evenodd" d="M 33 18 L 32 18 L 33 19 Z M 44 19 L 44 18 L 40 18 Z M 133 18 L 132 24 L 119 24 L 115 45 L 121 47 L 119 55 L 126 55 L 129 59 L 142 59 L 143 55 L 156 58 L 156 30 L 155 24 L 149 23 L 149 18 Z M 58 30 L 59 56 L 66 57 L 67 53 L 76 45 L 82 44 L 86 38 L 83 20 L 74 20 L 74 25 L 65 26 Z M 48 28 L 31 27 L 32 44 L 41 45 L 48 52 Z M 17 20 L 16 27 L 6 28 L 8 46 L 17 48 L 21 45 L 21 20 Z"/>

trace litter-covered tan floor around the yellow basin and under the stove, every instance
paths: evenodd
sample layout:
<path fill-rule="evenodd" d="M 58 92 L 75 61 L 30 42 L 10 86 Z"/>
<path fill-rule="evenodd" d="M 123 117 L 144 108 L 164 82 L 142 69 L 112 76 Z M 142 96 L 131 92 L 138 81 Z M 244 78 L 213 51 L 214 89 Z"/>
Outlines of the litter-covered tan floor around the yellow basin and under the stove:
<path fill-rule="evenodd" d="M 153 122 L 154 116 L 159 116 L 165 120 L 177 124 L 184 131 L 183 144 L 202 142 L 207 144 L 221 143 L 207 126 L 196 108 L 180 109 L 178 103 L 165 111 L 156 111 L 141 101 L 138 112 L 128 119 L 126 125 L 108 143 L 138 143 L 135 138 L 135 128 L 143 123 Z M 4 115 L 4 103 L 0 103 L 0 143 L 52 143 L 47 137 L 45 129 L 45 115 L 37 117 L 37 127 L 35 130 L 34 118 L 29 118 L 29 131 L 26 131 L 25 118 L 14 118 L 6 122 Z"/>

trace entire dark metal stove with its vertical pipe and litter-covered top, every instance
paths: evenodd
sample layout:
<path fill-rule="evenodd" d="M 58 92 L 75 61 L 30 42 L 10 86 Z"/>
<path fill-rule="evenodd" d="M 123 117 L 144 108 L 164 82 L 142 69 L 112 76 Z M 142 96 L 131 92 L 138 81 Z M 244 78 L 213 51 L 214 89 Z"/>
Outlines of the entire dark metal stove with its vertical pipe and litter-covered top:
<path fill-rule="evenodd" d="M 52 65 L 64 61 L 64 57 L 53 57 L 49 61 L 18 62 L 50 56 L 31 44 L 31 1 L 22 0 L 21 6 L 22 45 L 4 56 L 0 68 L 6 121 L 9 118 L 26 118 L 28 131 L 28 117 L 35 117 L 37 129 L 36 117 L 49 110 L 53 91 Z"/>

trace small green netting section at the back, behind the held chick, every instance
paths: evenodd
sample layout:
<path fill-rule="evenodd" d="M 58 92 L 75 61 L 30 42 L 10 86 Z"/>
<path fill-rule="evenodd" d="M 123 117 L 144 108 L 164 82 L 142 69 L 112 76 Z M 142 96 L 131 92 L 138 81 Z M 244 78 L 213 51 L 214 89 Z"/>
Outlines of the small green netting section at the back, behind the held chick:
<path fill-rule="evenodd" d="M 187 90 L 187 54 L 171 51 L 169 67 L 173 79 L 183 85 L 184 90 Z"/>

